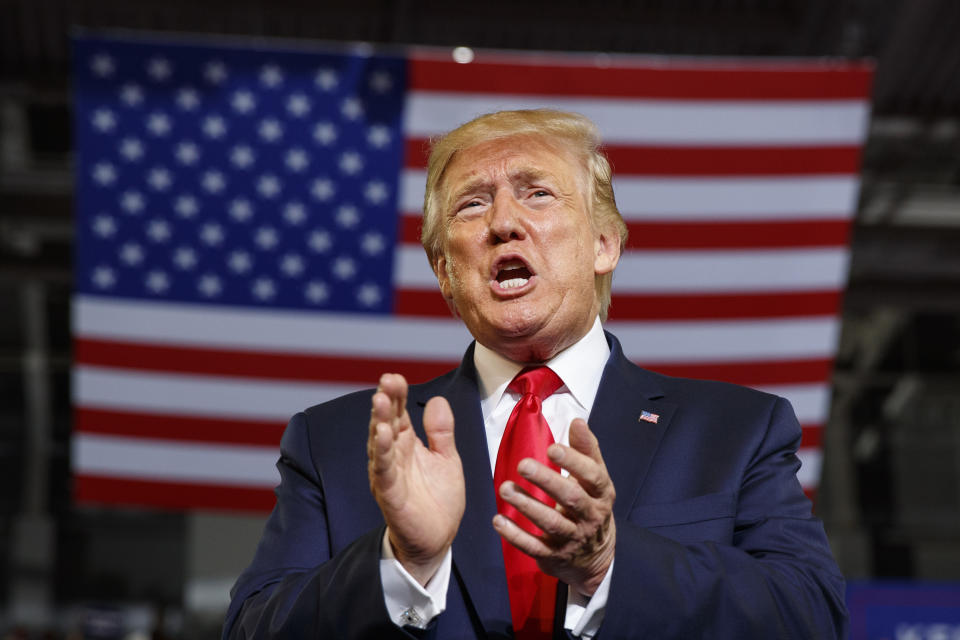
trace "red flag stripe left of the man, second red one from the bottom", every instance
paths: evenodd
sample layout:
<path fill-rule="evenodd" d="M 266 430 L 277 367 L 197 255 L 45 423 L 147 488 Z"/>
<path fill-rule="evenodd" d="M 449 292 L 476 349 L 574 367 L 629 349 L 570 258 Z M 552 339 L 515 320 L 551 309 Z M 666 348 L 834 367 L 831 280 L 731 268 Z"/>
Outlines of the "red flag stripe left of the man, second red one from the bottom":
<path fill-rule="evenodd" d="M 285 426 L 282 422 L 219 420 L 84 407 L 73 411 L 73 427 L 77 432 L 160 440 L 279 446 Z"/>

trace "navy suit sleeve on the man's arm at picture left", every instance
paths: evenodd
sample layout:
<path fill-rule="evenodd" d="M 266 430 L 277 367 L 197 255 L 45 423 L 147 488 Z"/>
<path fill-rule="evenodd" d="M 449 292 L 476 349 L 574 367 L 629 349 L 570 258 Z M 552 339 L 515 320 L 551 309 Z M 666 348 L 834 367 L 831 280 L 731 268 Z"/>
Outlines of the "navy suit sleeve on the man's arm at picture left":
<path fill-rule="evenodd" d="M 330 553 L 320 475 L 304 414 L 280 444 L 277 504 L 250 567 L 231 591 L 224 640 L 414 638 L 387 614 L 380 581 L 382 526 Z"/>

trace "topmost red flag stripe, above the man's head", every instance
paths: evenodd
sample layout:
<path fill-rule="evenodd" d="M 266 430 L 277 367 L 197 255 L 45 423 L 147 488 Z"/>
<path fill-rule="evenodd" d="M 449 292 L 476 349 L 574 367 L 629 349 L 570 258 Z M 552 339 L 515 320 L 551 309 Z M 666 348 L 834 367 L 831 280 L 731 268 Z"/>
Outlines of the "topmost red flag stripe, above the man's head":
<path fill-rule="evenodd" d="M 533 65 L 537 65 L 534 67 Z M 829 100 L 869 98 L 872 65 L 664 63 L 656 67 L 552 64 L 481 52 L 471 64 L 418 56 L 408 86 L 419 91 L 675 100 Z"/>

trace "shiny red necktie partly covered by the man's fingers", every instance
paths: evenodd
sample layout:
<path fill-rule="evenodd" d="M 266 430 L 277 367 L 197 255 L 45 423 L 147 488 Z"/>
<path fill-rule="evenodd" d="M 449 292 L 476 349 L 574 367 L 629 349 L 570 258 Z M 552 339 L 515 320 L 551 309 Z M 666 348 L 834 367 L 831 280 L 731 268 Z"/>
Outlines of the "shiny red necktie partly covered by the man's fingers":
<path fill-rule="evenodd" d="M 507 420 L 493 472 L 497 511 L 534 535 L 540 535 L 540 529 L 500 498 L 500 485 L 504 480 L 513 480 L 537 500 L 549 506 L 555 504 L 541 489 L 520 477 L 517 465 L 524 458 L 534 458 L 559 471 L 547 459 L 547 447 L 553 443 L 553 434 L 543 417 L 542 401 L 562 385 L 563 381 L 547 367 L 524 369 L 510 382 L 510 390 L 522 394 L 522 397 Z M 557 579 L 540 571 L 536 560 L 506 540 L 503 541 L 503 562 L 507 570 L 510 612 L 517 638 L 550 638 L 553 634 Z"/>

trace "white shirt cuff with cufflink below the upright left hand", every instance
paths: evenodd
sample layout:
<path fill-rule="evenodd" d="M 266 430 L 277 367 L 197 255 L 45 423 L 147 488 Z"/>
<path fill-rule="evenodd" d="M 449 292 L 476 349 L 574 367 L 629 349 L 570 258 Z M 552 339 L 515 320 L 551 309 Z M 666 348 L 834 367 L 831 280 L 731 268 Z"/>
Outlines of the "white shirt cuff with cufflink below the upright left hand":
<path fill-rule="evenodd" d="M 380 582 L 390 619 L 399 627 L 425 629 L 433 618 L 447 608 L 447 587 L 453 553 L 447 549 L 440 568 L 424 587 L 411 576 L 393 553 L 384 531 L 380 552 Z"/>

